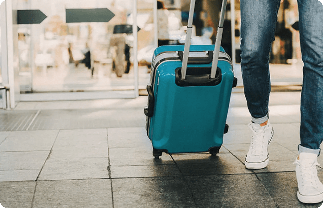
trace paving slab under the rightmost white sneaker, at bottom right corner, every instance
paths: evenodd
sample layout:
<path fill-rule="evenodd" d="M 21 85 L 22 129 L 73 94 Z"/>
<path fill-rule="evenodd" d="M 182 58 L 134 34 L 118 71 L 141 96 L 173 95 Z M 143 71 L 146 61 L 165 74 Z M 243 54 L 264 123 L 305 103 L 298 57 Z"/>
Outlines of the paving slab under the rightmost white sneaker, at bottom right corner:
<path fill-rule="evenodd" d="M 322 203 L 304 204 L 298 201 L 295 173 L 259 173 L 257 177 L 279 208 L 318 208 L 322 205 Z M 318 177 L 323 179 L 323 171 L 318 171 Z"/>

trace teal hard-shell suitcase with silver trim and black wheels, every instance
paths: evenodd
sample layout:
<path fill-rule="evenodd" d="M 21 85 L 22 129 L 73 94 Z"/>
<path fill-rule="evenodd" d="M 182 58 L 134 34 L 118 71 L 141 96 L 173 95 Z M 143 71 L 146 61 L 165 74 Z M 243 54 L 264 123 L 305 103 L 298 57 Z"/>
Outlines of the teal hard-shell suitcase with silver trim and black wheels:
<path fill-rule="evenodd" d="M 225 5 L 224 0 L 222 10 Z M 228 131 L 225 122 L 232 87 L 237 83 L 229 55 L 219 43 L 191 45 L 189 53 L 185 47 L 187 43 L 160 46 L 153 54 L 144 113 L 156 158 L 162 152 L 215 155 Z M 214 60 L 217 68 L 211 70 Z"/>

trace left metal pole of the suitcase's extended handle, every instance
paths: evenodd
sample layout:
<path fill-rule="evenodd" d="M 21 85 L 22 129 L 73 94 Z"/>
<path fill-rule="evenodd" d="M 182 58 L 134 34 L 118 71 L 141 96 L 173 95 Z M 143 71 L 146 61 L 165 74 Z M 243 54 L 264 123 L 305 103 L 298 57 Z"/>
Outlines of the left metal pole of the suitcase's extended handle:
<path fill-rule="evenodd" d="M 184 53 L 183 53 L 183 62 L 182 62 L 182 71 L 181 71 L 182 72 L 182 77 L 181 77 L 182 80 L 184 80 L 186 77 L 188 54 L 190 52 L 190 45 L 191 45 L 194 7 L 195 7 L 195 0 L 191 0 L 190 12 L 189 12 L 188 22 L 187 22 L 186 37 L 185 37 Z"/>

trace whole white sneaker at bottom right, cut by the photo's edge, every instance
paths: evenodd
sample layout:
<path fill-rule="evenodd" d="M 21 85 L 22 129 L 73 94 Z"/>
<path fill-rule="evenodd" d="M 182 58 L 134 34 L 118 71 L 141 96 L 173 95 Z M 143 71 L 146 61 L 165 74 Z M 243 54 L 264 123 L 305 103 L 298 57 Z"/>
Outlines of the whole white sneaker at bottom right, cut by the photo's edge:
<path fill-rule="evenodd" d="M 323 185 L 318 179 L 316 169 L 317 154 L 300 153 L 296 165 L 297 198 L 303 203 L 320 203 L 323 201 Z"/>

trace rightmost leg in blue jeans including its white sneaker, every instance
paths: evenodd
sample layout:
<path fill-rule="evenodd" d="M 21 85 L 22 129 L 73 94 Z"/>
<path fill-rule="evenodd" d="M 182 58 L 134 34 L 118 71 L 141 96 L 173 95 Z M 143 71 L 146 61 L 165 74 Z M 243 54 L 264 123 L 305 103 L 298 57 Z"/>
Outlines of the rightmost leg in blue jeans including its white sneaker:
<path fill-rule="evenodd" d="M 297 197 L 303 203 L 323 201 L 317 176 L 317 157 L 323 140 L 323 5 L 318 0 L 298 0 L 303 67 L 301 125 L 295 163 Z"/>

